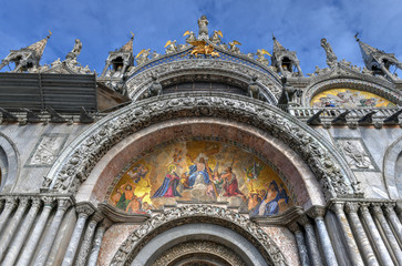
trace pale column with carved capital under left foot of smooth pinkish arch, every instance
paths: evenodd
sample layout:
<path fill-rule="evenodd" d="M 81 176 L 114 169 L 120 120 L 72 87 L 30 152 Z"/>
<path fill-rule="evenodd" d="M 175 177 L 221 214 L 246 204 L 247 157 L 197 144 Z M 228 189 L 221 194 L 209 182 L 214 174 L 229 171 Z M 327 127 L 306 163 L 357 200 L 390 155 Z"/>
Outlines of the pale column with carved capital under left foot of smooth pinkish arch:
<path fill-rule="evenodd" d="M 81 235 L 85 227 L 86 218 L 95 212 L 95 208 L 91 203 L 78 203 L 75 211 L 79 214 L 79 218 L 76 219 L 74 232 L 65 252 L 62 266 L 71 266 L 73 264 Z"/>

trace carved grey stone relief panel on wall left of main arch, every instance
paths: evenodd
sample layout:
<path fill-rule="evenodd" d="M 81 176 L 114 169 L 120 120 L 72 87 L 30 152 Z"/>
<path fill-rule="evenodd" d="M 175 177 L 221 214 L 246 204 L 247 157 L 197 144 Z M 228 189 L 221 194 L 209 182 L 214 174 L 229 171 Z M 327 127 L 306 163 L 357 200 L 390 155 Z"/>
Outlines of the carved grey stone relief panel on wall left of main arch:
<path fill-rule="evenodd" d="M 63 149 L 69 134 L 45 133 L 34 146 L 25 167 L 50 167 Z"/>

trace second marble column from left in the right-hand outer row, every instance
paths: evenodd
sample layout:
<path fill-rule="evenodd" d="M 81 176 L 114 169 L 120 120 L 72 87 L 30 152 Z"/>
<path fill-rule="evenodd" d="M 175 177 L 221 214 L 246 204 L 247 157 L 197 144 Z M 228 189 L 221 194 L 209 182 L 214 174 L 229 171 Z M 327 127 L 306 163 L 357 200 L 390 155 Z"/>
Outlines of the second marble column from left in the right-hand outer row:
<path fill-rule="evenodd" d="M 363 258 L 369 266 L 379 266 L 375 254 L 371 247 L 370 241 L 365 235 L 363 225 L 358 215 L 359 204 L 358 203 L 347 203 L 344 205 L 344 211 L 347 212 L 351 223 L 350 226 L 354 232 L 354 236 L 360 246 Z"/>

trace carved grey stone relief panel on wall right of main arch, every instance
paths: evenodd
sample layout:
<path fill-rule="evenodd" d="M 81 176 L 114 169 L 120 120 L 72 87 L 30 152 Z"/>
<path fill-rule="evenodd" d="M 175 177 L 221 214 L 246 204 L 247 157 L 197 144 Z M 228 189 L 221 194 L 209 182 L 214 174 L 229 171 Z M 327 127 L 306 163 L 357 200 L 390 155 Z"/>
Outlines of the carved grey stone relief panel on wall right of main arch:
<path fill-rule="evenodd" d="M 364 142 L 360 137 L 336 137 L 334 141 L 352 171 L 380 171 Z"/>

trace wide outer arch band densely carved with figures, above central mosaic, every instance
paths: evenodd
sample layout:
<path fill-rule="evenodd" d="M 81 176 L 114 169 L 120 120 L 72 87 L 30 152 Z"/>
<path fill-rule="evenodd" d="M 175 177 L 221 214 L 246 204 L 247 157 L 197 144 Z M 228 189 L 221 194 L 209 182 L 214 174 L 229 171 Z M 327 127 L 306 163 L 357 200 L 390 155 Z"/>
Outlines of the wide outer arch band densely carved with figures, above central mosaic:
<path fill-rule="evenodd" d="M 355 180 L 350 168 L 319 133 L 270 104 L 227 93 L 163 95 L 116 111 L 62 152 L 43 188 L 75 193 L 101 157 L 127 135 L 162 121 L 213 115 L 250 124 L 286 143 L 309 165 L 327 200 L 353 193 L 351 182 Z"/>

